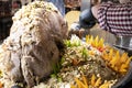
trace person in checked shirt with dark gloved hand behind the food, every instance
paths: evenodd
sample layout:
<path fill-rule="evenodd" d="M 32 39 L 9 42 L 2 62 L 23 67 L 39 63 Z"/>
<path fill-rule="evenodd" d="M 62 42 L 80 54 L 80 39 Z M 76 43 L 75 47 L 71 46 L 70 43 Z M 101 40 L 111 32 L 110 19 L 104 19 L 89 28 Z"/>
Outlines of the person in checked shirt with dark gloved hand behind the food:
<path fill-rule="evenodd" d="M 98 22 L 117 37 L 116 46 L 132 51 L 132 0 L 119 0 L 119 3 L 92 0 L 91 4 L 80 13 L 80 28 L 89 29 Z"/>

